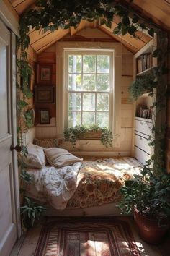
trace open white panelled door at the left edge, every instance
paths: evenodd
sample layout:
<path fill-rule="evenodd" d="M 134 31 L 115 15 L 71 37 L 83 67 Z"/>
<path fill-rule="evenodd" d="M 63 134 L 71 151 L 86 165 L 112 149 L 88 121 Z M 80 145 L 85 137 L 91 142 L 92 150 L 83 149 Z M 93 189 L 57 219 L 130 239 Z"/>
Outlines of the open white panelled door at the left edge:
<path fill-rule="evenodd" d="M 1 21 L 0 31 L 0 255 L 6 256 L 17 239 L 17 218 L 14 153 L 10 150 L 14 141 L 11 35 Z"/>

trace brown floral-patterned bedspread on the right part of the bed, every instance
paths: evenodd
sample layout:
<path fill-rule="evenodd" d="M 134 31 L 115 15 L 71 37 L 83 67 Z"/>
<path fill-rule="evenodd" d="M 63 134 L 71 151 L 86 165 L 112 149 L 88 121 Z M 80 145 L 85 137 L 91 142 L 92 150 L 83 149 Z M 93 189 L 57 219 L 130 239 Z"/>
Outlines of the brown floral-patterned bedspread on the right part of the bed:
<path fill-rule="evenodd" d="M 78 174 L 79 186 L 66 208 L 88 208 L 120 200 L 125 180 L 140 174 L 140 163 L 134 158 L 107 158 L 84 161 Z"/>

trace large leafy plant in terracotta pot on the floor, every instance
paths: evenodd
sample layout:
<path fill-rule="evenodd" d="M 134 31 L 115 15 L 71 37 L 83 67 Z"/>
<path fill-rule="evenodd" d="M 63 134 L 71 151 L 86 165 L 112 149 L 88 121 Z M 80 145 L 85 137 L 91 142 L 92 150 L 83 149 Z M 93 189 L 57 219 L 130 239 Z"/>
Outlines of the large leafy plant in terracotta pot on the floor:
<path fill-rule="evenodd" d="M 170 174 L 154 175 L 144 166 L 141 175 L 126 181 L 118 206 L 122 213 L 133 211 L 141 238 L 151 244 L 161 242 L 169 229 Z"/>

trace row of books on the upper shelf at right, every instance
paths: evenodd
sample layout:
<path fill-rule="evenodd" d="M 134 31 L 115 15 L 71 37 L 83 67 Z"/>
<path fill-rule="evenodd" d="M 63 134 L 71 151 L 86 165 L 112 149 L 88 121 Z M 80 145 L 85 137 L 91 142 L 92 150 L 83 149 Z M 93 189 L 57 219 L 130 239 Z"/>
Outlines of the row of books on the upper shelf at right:
<path fill-rule="evenodd" d="M 143 72 L 152 67 L 152 54 L 142 54 L 137 59 L 137 72 Z"/>

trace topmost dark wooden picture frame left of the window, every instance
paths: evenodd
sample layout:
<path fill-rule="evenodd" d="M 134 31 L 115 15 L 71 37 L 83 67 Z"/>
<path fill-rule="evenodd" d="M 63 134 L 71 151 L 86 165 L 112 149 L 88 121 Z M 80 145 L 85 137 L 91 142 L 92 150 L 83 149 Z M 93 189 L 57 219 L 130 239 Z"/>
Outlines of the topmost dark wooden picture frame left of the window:
<path fill-rule="evenodd" d="M 52 83 L 53 64 L 37 64 L 37 83 Z"/>

